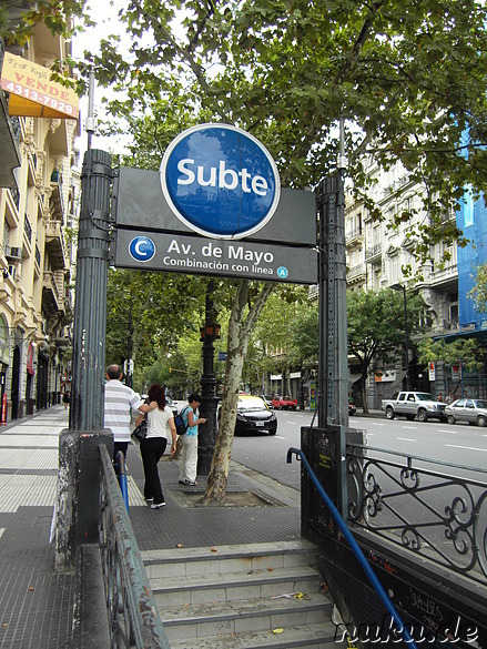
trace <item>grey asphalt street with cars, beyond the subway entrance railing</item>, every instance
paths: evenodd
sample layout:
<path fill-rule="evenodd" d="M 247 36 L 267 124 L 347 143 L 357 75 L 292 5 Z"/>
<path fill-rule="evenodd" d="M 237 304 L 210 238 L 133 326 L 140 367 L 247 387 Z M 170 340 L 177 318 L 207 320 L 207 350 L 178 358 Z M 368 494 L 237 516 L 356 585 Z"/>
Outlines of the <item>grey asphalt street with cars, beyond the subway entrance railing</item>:
<path fill-rule="evenodd" d="M 301 446 L 301 428 L 311 425 L 313 415 L 277 410 L 276 416 L 275 436 L 254 433 L 235 436 L 232 459 L 300 489 L 300 464 L 293 458 L 288 465 L 286 454 L 291 446 Z M 382 416 L 351 417 L 349 426 L 367 432 L 368 446 L 487 470 L 487 428 L 468 424 L 450 426 L 433 419 L 426 423 L 387 420 Z M 444 468 L 452 473 L 450 468 Z M 484 477 L 487 481 L 487 474 Z M 477 479 L 481 477 L 477 475 Z"/>

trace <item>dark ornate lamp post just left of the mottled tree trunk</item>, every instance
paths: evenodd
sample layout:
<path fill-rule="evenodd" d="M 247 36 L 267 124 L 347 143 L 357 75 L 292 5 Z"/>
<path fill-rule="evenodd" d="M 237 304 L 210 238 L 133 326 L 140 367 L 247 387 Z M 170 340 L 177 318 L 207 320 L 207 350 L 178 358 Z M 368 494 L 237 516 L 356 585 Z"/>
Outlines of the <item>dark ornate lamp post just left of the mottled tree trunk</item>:
<path fill-rule="evenodd" d="M 212 300 L 213 281 L 209 282 L 206 288 L 205 323 L 200 328 L 200 341 L 203 343 L 203 375 L 201 377 L 201 405 L 200 415 L 206 423 L 200 427 L 197 433 L 197 473 L 207 476 L 213 459 L 213 452 L 216 442 L 216 378 L 214 373 L 214 347 L 213 343 L 220 338 L 220 325 L 214 322 L 214 307 Z"/>

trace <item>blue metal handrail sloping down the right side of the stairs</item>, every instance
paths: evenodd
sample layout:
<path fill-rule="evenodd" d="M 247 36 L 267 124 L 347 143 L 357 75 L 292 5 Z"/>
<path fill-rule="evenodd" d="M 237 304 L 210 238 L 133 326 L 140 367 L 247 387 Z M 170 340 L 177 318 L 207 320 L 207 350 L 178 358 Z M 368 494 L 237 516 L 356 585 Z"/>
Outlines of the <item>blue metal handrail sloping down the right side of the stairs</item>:
<path fill-rule="evenodd" d="M 310 466 L 310 463 L 306 459 L 306 456 L 304 455 L 304 453 L 300 448 L 290 448 L 287 450 L 287 464 L 291 464 L 293 462 L 293 454 L 296 455 L 296 458 L 300 459 L 304 464 L 311 479 L 313 480 L 314 486 L 318 490 L 319 496 L 323 498 L 326 507 L 328 508 L 329 513 L 332 514 L 333 518 L 335 519 L 336 524 L 338 525 L 339 529 L 342 530 L 344 537 L 348 541 L 356 559 L 361 564 L 361 566 L 362 566 L 365 575 L 367 576 L 368 580 L 371 581 L 374 590 L 377 592 L 382 602 L 386 607 L 387 611 L 390 613 L 390 617 L 394 620 L 394 623 L 397 628 L 398 633 L 404 636 L 404 639 L 409 645 L 409 647 L 412 647 L 413 649 L 417 649 L 416 642 L 410 637 L 409 631 L 406 628 L 406 625 L 403 622 L 403 619 L 400 618 L 399 613 L 396 610 L 396 607 L 394 606 L 389 596 L 387 595 L 387 591 L 385 590 L 384 586 L 378 580 L 374 570 L 371 568 L 367 559 L 365 558 L 364 552 L 362 551 L 359 545 L 357 544 L 353 534 L 348 529 L 345 520 L 342 518 L 338 509 L 335 507 L 335 504 L 333 503 L 331 497 L 326 494 L 322 484 L 319 483 L 319 480 L 315 476 L 313 469 Z"/>

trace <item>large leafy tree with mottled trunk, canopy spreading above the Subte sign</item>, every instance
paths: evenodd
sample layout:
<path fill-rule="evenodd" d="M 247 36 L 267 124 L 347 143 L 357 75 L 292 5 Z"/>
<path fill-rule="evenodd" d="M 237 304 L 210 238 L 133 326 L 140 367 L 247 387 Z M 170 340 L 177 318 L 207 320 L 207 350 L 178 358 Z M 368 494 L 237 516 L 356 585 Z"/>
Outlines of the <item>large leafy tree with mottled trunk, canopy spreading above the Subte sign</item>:
<path fill-rule="evenodd" d="M 284 186 L 313 186 L 335 171 L 336 124 L 345 118 L 357 193 L 366 183 L 365 153 L 384 166 L 400 156 L 415 180 L 426 183 L 430 224 L 420 226 L 415 249 L 425 257 L 435 239 L 460 235 L 442 215 L 463 186 L 486 189 L 486 16 L 475 0 L 131 0 L 119 14 L 130 51 L 125 55 L 108 38 L 90 62 L 101 83 L 125 93 L 108 100 L 115 128 L 136 134 L 146 121 L 138 144 L 151 132 L 162 151 L 185 124 L 237 124 L 266 144 Z M 371 201 L 367 206 L 374 210 Z M 390 226 L 406 217 L 397 215 Z M 239 323 L 241 300 L 255 288 L 239 282 L 231 290 L 231 362 L 215 454 L 226 466 L 246 324 L 271 293 L 261 285 L 252 301 L 256 312 Z M 215 471 L 212 480 L 221 496 L 223 474 Z"/>

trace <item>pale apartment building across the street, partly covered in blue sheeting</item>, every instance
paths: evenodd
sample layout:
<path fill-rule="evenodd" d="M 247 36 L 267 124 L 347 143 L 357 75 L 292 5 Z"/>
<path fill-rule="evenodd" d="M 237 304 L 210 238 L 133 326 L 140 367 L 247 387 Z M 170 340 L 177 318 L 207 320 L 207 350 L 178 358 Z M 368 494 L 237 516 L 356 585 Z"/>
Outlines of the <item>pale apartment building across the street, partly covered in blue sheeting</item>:
<path fill-rule="evenodd" d="M 485 329 L 487 314 L 476 313 L 468 292 L 475 282 L 475 268 L 487 261 L 486 210 L 484 200 L 474 202 L 466 193 L 465 201 L 457 212 L 446 214 L 446 221 L 456 221 L 457 226 L 469 239 L 466 247 L 456 244 L 447 246 L 439 242 L 432 246 L 430 261 L 419 267 L 412 252 L 419 234 L 419 224 L 428 221 L 423 207 L 424 186 L 410 179 L 407 170 L 397 161 L 389 170 L 381 168 L 373 158 L 366 164 L 367 174 L 373 181 L 371 197 L 378 205 L 384 219 L 374 220 L 362 202 L 356 202 L 347 193 L 345 206 L 345 241 L 347 254 L 347 288 L 381 291 L 404 285 L 422 294 L 429 307 L 428 332 L 434 338 L 455 336 L 476 336 L 487 347 Z M 400 223 L 397 229 L 389 226 L 394 216 L 402 212 L 414 216 Z M 445 252 L 448 253 L 447 261 Z M 410 265 L 412 278 L 403 274 L 403 267 Z M 422 280 L 417 280 L 420 274 Z M 416 278 L 414 278 L 416 275 Z M 485 397 L 485 373 L 468 373 L 458 365 L 445 366 L 436 363 L 429 368 L 420 366 L 415 356 L 414 341 L 409 345 L 409 381 L 417 389 L 434 394 L 456 395 L 465 391 L 473 396 Z M 359 402 L 358 367 L 349 363 L 349 389 L 355 403 Z M 397 363 L 382 368 L 382 375 L 371 375 L 367 386 L 368 407 L 381 407 L 381 400 L 402 387 L 405 372 L 400 357 Z"/>

